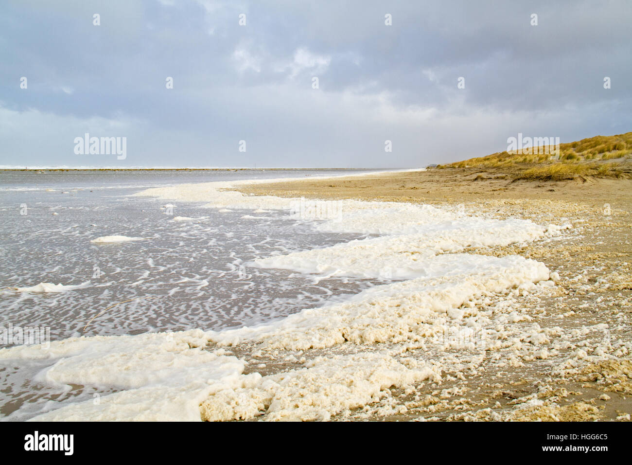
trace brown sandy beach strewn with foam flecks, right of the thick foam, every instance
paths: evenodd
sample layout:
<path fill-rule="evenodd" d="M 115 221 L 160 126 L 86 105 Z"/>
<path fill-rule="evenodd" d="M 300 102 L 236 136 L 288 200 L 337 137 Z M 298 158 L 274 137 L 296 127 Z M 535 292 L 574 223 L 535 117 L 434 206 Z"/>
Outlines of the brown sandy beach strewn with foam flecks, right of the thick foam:
<path fill-rule="evenodd" d="M 552 271 L 554 287 L 488 295 L 470 304 L 473 313 L 507 313 L 511 307 L 513 319 L 509 321 L 513 323 L 502 328 L 506 335 L 501 344 L 469 354 L 458 348 L 434 352 L 423 344 L 399 347 L 413 359 L 432 361 L 434 357 L 445 370 L 441 383 L 423 381 L 406 390 L 386 390 L 377 404 L 332 419 L 630 419 L 632 180 L 512 182 L 512 175 L 509 168 L 433 168 L 240 187 L 250 195 L 410 202 L 447 208 L 463 205 L 472 215 L 571 225 L 557 240 L 466 249 L 471 254 L 536 259 Z M 337 350 L 358 350 L 345 345 L 351 344 Z M 389 345 L 382 346 L 373 350 Z M 310 358 L 318 351 L 306 352 L 311 353 L 300 356 Z M 605 359 L 595 363 L 593 356 Z M 442 363 L 446 359 L 449 362 Z M 265 354 L 260 360 L 267 362 L 265 373 L 261 372 L 266 375 L 293 366 Z"/>

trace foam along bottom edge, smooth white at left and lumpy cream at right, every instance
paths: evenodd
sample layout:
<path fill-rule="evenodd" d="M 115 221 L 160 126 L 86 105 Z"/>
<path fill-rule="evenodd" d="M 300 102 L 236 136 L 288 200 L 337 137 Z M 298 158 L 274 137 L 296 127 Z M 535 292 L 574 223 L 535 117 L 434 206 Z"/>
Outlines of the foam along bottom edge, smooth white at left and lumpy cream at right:
<path fill-rule="evenodd" d="M 394 385 L 439 379 L 437 369 L 420 361 L 370 352 L 317 357 L 305 368 L 272 376 L 243 375 L 243 361 L 221 349 L 203 350 L 206 344 L 200 330 L 97 336 L 52 342 L 49 350 L 1 349 L 0 359 L 48 359 L 40 382 L 123 389 L 33 421 L 214 421 L 264 413 L 269 420 L 326 420 L 379 400 Z"/>

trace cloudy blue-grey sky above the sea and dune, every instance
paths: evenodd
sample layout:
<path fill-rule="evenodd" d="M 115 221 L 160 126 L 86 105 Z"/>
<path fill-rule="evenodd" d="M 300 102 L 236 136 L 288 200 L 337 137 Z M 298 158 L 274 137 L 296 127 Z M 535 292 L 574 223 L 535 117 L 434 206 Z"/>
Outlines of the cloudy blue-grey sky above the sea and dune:
<path fill-rule="evenodd" d="M 0 165 L 418 168 L 629 132 L 631 24 L 629 0 L 3 0 Z"/>

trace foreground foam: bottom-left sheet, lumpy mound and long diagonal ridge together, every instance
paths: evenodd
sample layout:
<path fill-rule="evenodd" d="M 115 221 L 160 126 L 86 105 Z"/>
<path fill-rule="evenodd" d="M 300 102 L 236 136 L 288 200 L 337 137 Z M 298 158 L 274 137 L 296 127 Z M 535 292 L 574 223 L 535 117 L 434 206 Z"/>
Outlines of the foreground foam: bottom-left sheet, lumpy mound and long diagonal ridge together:
<path fill-rule="evenodd" d="M 463 254 L 465 255 L 465 254 Z M 454 257 L 463 258 L 455 255 Z M 437 257 L 439 258 L 439 257 Z M 477 263 L 472 268 L 471 264 Z M 375 342 L 425 340 L 461 321 L 463 303 L 486 292 L 545 280 L 548 270 L 523 257 L 473 257 L 452 276 L 380 285 L 348 301 L 306 309 L 269 325 L 222 332 L 188 331 L 137 336 L 73 338 L 49 350 L 20 346 L 0 359 L 46 359 L 38 381 L 123 389 L 37 416 L 36 420 L 329 419 L 427 378 L 438 368 L 418 359 L 402 361 L 370 351 Z M 438 273 L 439 274 L 439 273 Z M 484 322 L 471 321 L 470 326 Z M 317 357 L 304 368 L 276 375 L 243 375 L 245 363 L 210 343 L 258 344 L 266 349 L 366 347 L 358 354 Z M 246 346 L 247 347 L 247 346 Z"/>

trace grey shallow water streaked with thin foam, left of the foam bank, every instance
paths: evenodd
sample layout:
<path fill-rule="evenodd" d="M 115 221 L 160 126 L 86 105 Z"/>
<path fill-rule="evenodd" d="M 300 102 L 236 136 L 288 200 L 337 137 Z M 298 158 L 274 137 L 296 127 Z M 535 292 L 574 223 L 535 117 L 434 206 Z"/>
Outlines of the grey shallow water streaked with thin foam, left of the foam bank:
<path fill-rule="evenodd" d="M 260 323 L 332 295 L 355 293 L 362 283 L 316 282 L 298 273 L 253 268 L 248 262 L 363 236 L 317 232 L 312 223 L 291 220 L 287 212 L 220 212 L 198 204 L 171 204 L 169 209 L 164 201 L 130 197 L 156 185 L 324 173 L 327 170 L 4 172 L 0 314 L 5 326 L 48 326 L 52 340 L 221 329 Z M 242 218 L 245 213 L 253 218 Z M 174 221 L 178 216 L 197 219 Z M 146 239 L 90 243 L 118 234 Z M 61 293 L 10 289 L 42 282 L 83 287 Z M 123 301 L 130 302 L 97 316 Z"/>

